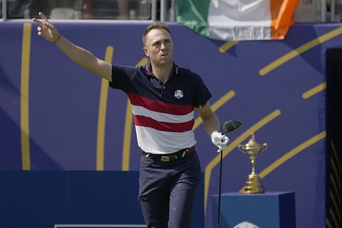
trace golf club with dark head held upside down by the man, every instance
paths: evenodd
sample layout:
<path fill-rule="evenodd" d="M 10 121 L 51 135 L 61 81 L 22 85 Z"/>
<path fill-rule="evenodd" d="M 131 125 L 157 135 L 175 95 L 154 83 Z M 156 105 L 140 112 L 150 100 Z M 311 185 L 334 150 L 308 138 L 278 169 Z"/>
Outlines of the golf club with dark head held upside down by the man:
<path fill-rule="evenodd" d="M 221 134 L 227 134 L 231 131 L 235 131 L 241 126 L 241 121 L 231 120 L 226 121 L 224 125 L 222 125 Z M 223 142 L 223 140 L 222 140 Z M 223 151 L 220 151 L 221 159 L 220 159 L 220 182 L 219 182 L 219 190 L 218 190 L 218 228 L 220 227 L 220 213 L 221 213 L 221 185 L 222 185 L 222 158 L 223 158 Z"/>

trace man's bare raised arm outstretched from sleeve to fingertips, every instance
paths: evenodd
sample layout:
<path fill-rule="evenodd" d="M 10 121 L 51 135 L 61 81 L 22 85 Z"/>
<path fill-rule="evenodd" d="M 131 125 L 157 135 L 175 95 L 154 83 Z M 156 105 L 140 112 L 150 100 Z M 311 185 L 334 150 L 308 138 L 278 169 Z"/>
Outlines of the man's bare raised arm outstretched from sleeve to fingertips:
<path fill-rule="evenodd" d="M 110 63 L 96 58 L 90 51 L 78 47 L 64 38 L 42 12 L 39 13 L 39 16 L 42 18 L 42 21 L 33 18 L 33 21 L 38 25 L 38 36 L 42 36 L 45 40 L 57 45 L 68 58 L 79 64 L 79 66 L 83 66 L 88 71 L 111 81 Z"/>

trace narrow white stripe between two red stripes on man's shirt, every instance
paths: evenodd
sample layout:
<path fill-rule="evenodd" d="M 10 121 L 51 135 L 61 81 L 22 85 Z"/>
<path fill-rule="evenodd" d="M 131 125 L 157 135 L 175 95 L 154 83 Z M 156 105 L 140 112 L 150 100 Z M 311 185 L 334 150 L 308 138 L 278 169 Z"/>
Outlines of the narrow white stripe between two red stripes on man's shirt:
<path fill-rule="evenodd" d="M 142 106 L 131 105 L 132 112 L 138 116 L 146 116 L 153 118 L 155 121 L 166 122 L 166 123 L 185 123 L 194 119 L 194 110 L 186 115 L 173 115 L 150 111 Z"/>

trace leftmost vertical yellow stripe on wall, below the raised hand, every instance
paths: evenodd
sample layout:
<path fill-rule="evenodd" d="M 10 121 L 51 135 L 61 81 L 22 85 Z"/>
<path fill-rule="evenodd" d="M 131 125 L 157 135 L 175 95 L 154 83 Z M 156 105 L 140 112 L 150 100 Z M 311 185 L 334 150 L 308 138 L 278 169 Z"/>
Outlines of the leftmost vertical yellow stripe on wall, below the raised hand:
<path fill-rule="evenodd" d="M 31 23 L 23 25 L 21 51 L 21 160 L 23 170 L 31 169 L 29 153 L 29 55 L 31 49 Z"/>

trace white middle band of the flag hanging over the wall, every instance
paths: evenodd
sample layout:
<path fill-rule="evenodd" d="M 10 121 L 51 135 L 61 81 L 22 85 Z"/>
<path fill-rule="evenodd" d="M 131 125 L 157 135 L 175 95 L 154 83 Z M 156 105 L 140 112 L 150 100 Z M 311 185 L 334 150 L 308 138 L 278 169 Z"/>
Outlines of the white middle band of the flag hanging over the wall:
<path fill-rule="evenodd" d="M 220 0 L 209 5 L 209 36 L 220 40 L 268 40 L 271 12 L 265 0 Z"/>

